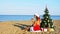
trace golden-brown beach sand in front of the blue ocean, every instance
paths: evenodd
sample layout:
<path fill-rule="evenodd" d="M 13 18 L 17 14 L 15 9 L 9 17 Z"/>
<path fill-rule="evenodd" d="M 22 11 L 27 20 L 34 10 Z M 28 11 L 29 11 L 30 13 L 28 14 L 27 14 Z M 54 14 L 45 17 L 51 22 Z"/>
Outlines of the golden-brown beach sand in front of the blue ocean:
<path fill-rule="evenodd" d="M 54 32 L 29 32 L 25 31 L 23 26 L 29 26 L 31 21 L 5 21 L 0 22 L 0 34 L 60 34 L 60 20 L 54 20 L 55 31 Z"/>

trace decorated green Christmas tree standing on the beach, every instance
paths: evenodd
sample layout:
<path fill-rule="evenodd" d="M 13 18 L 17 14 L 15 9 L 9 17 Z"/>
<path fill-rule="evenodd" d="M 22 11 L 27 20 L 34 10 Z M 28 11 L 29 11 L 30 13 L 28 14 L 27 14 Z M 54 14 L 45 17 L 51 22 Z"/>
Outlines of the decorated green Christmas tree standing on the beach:
<path fill-rule="evenodd" d="M 43 19 L 41 21 L 41 28 L 54 28 L 53 27 L 53 21 L 49 15 L 49 11 L 47 7 L 45 8 L 45 14 L 43 15 Z"/>

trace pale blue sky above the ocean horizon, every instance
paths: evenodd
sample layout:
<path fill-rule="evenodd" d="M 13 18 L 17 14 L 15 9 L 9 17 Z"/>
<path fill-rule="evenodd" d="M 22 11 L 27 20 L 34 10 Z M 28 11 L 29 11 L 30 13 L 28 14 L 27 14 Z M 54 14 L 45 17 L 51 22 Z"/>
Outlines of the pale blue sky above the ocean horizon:
<path fill-rule="evenodd" d="M 60 0 L 0 0 L 0 15 L 39 15 L 46 8 L 51 15 L 60 15 Z"/>

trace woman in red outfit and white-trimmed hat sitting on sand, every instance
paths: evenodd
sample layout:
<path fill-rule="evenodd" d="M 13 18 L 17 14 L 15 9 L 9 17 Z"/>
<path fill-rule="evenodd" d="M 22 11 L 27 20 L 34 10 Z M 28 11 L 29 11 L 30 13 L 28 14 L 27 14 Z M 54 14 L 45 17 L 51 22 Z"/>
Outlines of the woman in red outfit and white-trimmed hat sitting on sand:
<path fill-rule="evenodd" d="M 35 13 L 34 19 L 32 19 L 33 25 L 31 27 L 33 32 L 40 32 L 40 16 Z"/>

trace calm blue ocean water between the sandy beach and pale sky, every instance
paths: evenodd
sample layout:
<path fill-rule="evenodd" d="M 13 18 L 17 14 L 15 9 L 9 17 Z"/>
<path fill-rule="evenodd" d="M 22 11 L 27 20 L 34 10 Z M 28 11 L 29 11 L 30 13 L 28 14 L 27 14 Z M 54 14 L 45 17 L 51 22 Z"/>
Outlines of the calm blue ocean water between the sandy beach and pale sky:
<path fill-rule="evenodd" d="M 0 21 L 19 21 L 19 20 L 31 20 L 33 15 L 0 15 Z M 53 20 L 60 20 L 60 16 L 50 16 Z M 40 16 L 42 19 L 42 15 Z"/>

